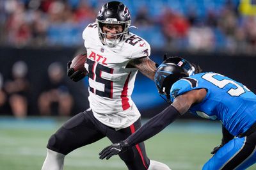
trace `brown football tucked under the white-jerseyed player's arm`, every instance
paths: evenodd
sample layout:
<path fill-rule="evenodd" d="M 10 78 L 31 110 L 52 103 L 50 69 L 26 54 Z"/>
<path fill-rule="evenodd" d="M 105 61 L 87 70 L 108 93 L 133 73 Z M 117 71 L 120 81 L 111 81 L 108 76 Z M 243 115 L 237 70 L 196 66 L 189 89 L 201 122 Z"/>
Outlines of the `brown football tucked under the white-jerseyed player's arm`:
<path fill-rule="evenodd" d="M 81 72 L 84 72 L 84 74 L 87 74 L 86 69 L 84 68 L 84 63 L 86 62 L 87 54 L 79 54 L 74 59 L 72 59 L 72 63 L 70 65 L 70 68 L 74 68 L 75 71 L 80 70 Z"/>

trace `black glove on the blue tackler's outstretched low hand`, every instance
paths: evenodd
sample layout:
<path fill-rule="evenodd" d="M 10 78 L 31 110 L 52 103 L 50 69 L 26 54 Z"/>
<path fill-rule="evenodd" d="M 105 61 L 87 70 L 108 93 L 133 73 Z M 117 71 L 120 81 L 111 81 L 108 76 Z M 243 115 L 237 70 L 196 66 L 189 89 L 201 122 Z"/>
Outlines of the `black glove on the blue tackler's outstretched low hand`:
<path fill-rule="evenodd" d="M 121 141 L 120 143 L 111 144 L 110 146 L 107 146 L 102 151 L 100 151 L 100 159 L 106 158 L 108 160 L 113 155 L 122 153 L 123 151 L 126 151 L 128 148 L 129 144 L 125 143 L 124 141 Z"/>

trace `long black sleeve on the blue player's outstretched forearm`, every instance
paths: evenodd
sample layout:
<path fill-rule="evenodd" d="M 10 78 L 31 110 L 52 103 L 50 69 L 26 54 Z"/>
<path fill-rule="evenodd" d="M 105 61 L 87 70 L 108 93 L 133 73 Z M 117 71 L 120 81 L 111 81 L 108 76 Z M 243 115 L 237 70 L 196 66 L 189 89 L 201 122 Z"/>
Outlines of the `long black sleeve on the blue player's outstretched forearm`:
<path fill-rule="evenodd" d="M 179 112 L 172 105 L 168 106 L 162 112 L 147 121 L 134 134 L 125 139 L 124 143 L 128 146 L 134 146 L 150 137 L 156 135 L 165 127 L 170 125 L 179 116 Z"/>

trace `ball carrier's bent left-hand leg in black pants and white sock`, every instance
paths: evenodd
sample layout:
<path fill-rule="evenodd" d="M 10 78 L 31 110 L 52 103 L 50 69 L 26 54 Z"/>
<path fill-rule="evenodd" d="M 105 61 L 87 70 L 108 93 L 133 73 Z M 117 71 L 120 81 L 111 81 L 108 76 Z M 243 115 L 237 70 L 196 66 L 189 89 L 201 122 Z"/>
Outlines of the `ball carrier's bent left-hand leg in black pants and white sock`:
<path fill-rule="evenodd" d="M 49 139 L 47 157 L 42 170 L 63 169 L 65 155 L 105 137 L 93 121 L 92 111 L 85 111 L 64 123 Z"/>

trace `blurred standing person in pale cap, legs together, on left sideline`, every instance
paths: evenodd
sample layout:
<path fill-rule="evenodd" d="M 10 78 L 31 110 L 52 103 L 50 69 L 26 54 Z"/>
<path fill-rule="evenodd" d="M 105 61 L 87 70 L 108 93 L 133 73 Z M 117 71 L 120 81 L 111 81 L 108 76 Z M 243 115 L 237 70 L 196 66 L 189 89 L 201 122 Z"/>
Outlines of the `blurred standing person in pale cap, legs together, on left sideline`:
<path fill-rule="evenodd" d="M 30 84 L 27 73 L 27 64 L 24 61 L 17 61 L 12 66 L 12 79 L 4 84 L 12 113 L 17 118 L 24 118 L 28 114 Z"/>

